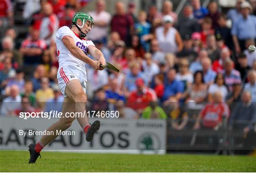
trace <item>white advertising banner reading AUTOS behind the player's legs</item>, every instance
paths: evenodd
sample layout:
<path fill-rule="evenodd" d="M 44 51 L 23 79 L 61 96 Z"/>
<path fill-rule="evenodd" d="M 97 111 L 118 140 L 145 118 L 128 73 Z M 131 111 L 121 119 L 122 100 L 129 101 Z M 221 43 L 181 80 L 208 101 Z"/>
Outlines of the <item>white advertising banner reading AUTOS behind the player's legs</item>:
<path fill-rule="evenodd" d="M 42 135 L 51 135 L 46 128 L 57 118 L 0 118 L 0 148 L 27 150 L 30 143 L 36 143 Z M 90 118 L 93 122 L 96 118 Z M 128 120 L 121 118 L 100 118 L 101 128 L 92 142 L 85 140 L 85 134 L 77 120 L 66 131 L 45 147 L 45 150 L 97 152 L 97 153 L 144 153 L 165 154 L 165 120 Z"/>

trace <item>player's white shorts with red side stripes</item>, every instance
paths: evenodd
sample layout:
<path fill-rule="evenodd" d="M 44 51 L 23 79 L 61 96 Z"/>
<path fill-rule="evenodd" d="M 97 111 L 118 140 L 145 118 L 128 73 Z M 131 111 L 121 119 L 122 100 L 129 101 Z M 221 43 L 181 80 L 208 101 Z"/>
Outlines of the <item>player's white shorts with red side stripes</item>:
<path fill-rule="evenodd" d="M 59 68 L 57 73 L 57 79 L 60 91 L 64 95 L 64 97 L 67 97 L 67 95 L 65 94 L 67 83 L 74 79 L 78 79 L 80 81 L 82 89 L 84 93 L 86 93 L 86 72 L 81 71 L 73 65 L 65 65 L 64 67 Z"/>

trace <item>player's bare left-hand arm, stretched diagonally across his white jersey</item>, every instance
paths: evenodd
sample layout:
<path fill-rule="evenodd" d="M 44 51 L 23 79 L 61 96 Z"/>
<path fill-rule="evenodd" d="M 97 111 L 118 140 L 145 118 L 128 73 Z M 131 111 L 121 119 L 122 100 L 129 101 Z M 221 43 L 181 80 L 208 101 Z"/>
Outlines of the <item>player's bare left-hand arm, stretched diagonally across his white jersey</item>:
<path fill-rule="evenodd" d="M 85 55 L 82 50 L 75 45 L 75 41 L 72 37 L 66 36 L 63 38 L 64 45 L 68 48 L 70 53 L 74 55 L 79 60 L 91 65 L 94 69 L 100 69 L 100 61 L 93 61 L 87 55 Z M 90 46 L 91 47 L 91 46 Z"/>

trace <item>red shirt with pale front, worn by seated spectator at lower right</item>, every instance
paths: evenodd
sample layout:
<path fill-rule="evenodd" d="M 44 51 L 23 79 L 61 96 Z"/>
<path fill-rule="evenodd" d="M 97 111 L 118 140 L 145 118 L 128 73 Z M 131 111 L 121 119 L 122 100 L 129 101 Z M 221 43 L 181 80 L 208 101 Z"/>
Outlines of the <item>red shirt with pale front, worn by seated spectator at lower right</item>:
<path fill-rule="evenodd" d="M 229 117 L 229 106 L 225 102 L 209 103 L 201 110 L 203 126 L 214 128 L 222 121 L 222 116 Z"/>

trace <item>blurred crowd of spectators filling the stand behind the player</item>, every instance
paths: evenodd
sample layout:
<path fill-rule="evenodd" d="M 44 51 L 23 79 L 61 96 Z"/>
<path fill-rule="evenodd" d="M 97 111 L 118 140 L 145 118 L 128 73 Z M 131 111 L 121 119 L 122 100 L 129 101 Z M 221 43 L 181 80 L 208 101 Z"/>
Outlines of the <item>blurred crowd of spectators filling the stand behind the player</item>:
<path fill-rule="evenodd" d="M 22 18 L 28 32 L 16 41 L 15 6 L 0 0 L 1 116 L 62 109 L 55 33 L 72 27 L 89 0 L 27 0 Z M 256 122 L 256 0 L 237 0 L 222 11 L 218 1 L 202 7 L 188 0 L 181 14 L 170 0 L 146 10 L 105 0 L 88 12 L 91 39 L 120 73 L 87 66 L 87 109 L 119 110 L 121 118 L 171 119 L 172 128 L 218 128 L 222 118 L 248 132 Z M 138 11 L 138 13 L 136 13 Z M 3 32 L 4 31 L 4 32 Z M 11 106 L 8 102 L 13 102 Z M 246 123 L 236 123 L 246 122 Z"/>

